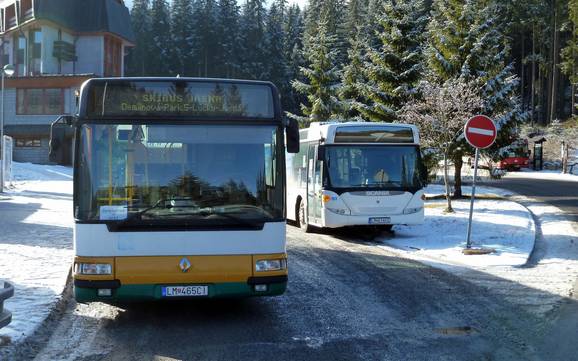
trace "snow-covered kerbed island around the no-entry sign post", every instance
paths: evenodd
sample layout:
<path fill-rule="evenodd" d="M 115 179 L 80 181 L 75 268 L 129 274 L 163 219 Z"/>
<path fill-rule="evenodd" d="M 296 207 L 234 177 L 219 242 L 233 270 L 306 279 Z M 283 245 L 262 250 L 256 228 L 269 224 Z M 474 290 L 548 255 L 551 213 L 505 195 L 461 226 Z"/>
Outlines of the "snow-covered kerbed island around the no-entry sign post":
<path fill-rule="evenodd" d="M 442 186 L 431 185 L 426 194 L 440 194 Z M 464 187 L 469 193 L 470 187 Z M 505 193 L 498 189 L 477 188 L 477 194 Z M 526 263 L 534 246 L 535 226 L 530 212 L 508 200 L 481 199 L 475 202 L 472 223 L 472 245 L 496 250 L 488 255 L 466 256 L 469 200 L 452 202 L 454 213 L 446 213 L 447 202 L 430 200 L 425 205 L 425 222 L 398 226 L 395 237 L 384 238 L 388 246 L 417 257 L 431 258 L 450 265 L 520 266 Z"/>

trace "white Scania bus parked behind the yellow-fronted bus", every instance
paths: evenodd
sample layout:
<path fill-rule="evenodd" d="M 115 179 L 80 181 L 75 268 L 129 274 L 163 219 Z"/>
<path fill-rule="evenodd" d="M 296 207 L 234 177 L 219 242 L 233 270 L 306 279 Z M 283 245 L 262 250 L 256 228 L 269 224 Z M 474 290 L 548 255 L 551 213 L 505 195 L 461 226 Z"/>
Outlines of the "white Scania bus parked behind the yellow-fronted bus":
<path fill-rule="evenodd" d="M 424 219 L 427 172 L 414 125 L 312 123 L 287 155 L 287 217 L 311 226 L 371 226 Z"/>

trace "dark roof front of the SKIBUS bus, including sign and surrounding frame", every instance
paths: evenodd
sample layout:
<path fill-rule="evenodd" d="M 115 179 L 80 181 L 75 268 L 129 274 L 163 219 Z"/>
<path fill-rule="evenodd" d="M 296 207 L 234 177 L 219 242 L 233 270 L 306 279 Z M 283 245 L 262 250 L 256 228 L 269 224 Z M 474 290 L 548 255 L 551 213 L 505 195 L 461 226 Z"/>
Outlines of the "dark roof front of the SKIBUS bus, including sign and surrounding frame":
<path fill-rule="evenodd" d="M 95 78 L 81 88 L 80 118 L 281 120 L 279 93 L 266 81 Z"/>

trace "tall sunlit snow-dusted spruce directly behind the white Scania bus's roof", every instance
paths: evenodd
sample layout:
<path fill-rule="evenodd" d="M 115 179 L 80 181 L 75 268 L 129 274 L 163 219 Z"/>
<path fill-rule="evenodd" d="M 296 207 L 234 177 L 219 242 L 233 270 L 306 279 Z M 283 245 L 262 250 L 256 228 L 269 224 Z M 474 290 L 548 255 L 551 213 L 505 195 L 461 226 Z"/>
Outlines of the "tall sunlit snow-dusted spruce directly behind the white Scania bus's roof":
<path fill-rule="evenodd" d="M 391 122 L 415 94 L 423 74 L 421 46 L 426 22 L 422 1 L 385 3 L 377 21 L 380 45 L 366 46 L 363 75 L 367 81 L 357 84 L 365 99 L 354 106 L 366 120 Z"/>

